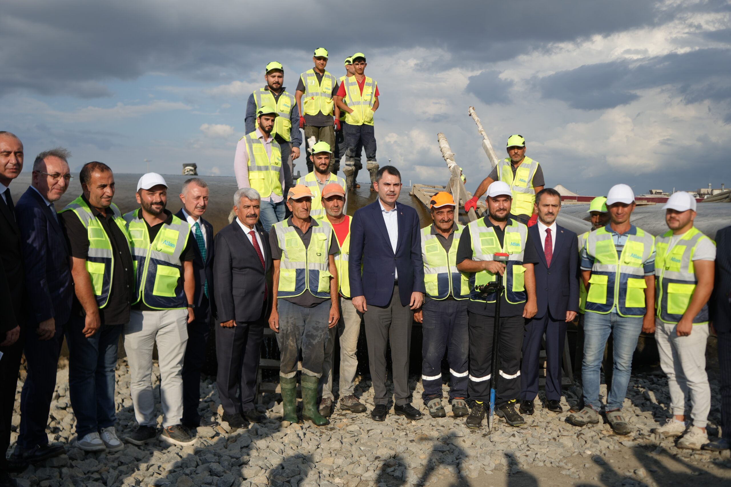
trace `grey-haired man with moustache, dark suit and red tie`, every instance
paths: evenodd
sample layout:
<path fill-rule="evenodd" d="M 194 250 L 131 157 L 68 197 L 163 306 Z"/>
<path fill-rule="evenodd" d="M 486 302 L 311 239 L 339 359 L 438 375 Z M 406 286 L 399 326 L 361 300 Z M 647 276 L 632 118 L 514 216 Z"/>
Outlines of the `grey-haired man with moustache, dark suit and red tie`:
<path fill-rule="evenodd" d="M 216 386 L 223 421 L 232 428 L 266 419 L 254 409 L 260 347 L 272 299 L 269 235 L 257 225 L 260 202 L 257 190 L 240 188 L 234 195 L 236 219 L 216 235 Z"/>

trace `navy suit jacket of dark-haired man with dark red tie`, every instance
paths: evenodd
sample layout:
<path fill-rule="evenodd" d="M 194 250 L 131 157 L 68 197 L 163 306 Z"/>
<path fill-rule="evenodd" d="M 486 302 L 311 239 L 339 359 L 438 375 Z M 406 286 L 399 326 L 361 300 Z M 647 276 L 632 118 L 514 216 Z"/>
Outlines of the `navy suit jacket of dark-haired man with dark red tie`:
<path fill-rule="evenodd" d="M 528 231 L 539 256 L 539 263 L 533 266 L 538 305 L 535 318 L 542 318 L 549 312 L 554 320 L 564 321 L 567 311 L 579 310 L 578 237 L 556 224 L 556 234 L 551 236 L 553 257 L 548 267 L 538 225 L 529 227 Z"/>

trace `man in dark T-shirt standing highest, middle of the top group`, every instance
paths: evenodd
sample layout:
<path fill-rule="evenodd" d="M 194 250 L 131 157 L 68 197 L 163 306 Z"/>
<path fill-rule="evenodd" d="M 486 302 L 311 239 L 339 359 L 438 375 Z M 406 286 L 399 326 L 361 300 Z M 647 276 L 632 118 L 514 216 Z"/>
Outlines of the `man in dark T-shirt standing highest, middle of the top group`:
<path fill-rule="evenodd" d="M 300 82 L 295 91 L 297 109 L 300 115 L 300 129 L 305 130 L 305 148 L 309 155 L 311 147 L 319 141 L 335 145 L 335 126 L 333 96 L 338 93 L 338 80 L 329 72 L 327 49 L 318 47 L 312 56 L 314 68 L 300 74 Z M 312 162 L 307 161 L 307 172 L 312 172 Z"/>

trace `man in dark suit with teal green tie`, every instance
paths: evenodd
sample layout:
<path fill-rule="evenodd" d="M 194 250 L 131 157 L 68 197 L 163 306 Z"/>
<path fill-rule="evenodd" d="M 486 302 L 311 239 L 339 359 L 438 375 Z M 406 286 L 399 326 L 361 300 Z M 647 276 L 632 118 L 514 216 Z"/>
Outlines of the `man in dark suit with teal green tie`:
<path fill-rule="evenodd" d="M 208 184 L 198 177 L 183 183 L 181 190 L 183 207 L 175 214 L 190 225 L 193 246 L 193 272 L 195 294 L 193 312 L 195 319 L 188 323 L 188 343 L 183 359 L 183 418 L 188 428 L 200 426 L 198 403 L 200 402 L 200 369 L 205 361 L 205 344 L 211 332 L 215 308 L 213 306 L 213 226 L 203 219 L 208 207 Z"/>

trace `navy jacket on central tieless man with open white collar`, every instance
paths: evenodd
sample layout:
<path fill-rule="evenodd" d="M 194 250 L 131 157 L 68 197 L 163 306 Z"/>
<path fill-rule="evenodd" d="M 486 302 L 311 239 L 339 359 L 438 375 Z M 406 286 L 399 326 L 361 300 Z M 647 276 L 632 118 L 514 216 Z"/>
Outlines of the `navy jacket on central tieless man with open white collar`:
<path fill-rule="evenodd" d="M 419 215 L 406 204 L 397 203 L 396 209 L 398 243 L 395 252 L 378 199 L 353 215 L 348 260 L 350 293 L 351 296 L 365 296 L 366 304 L 387 306 L 393 294 L 396 269 L 402 306 L 409 304 L 413 292 L 426 291 Z"/>

